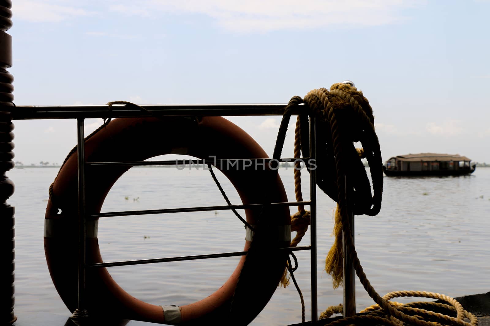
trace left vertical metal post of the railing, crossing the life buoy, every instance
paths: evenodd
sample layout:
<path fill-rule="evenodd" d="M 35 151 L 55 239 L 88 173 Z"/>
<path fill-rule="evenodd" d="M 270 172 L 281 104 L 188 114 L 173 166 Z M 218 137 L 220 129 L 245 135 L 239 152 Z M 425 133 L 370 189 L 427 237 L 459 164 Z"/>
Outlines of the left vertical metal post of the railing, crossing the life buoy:
<path fill-rule="evenodd" d="M 89 317 L 85 302 L 85 127 L 84 119 L 76 120 L 78 155 L 78 303 L 71 318 L 82 322 Z"/>

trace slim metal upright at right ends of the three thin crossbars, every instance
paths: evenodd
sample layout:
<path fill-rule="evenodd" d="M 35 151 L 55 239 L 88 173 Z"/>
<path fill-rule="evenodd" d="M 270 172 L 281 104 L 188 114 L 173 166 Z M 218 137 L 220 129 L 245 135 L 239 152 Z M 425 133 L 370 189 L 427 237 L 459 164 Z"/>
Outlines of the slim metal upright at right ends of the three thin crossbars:
<path fill-rule="evenodd" d="M 316 120 L 310 117 L 310 159 L 316 165 L 317 143 L 316 143 Z M 311 260 L 311 325 L 316 325 L 318 320 L 317 300 L 317 171 L 310 169 L 310 260 Z"/>

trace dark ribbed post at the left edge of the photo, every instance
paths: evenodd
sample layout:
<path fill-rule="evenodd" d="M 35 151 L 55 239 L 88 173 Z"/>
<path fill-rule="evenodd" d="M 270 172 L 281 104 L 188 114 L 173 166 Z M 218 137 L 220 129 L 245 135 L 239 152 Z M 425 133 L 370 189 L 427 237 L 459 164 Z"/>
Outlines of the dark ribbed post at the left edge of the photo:
<path fill-rule="evenodd" d="M 6 33 L 12 27 L 12 1 L 0 0 L 0 325 L 8 325 L 14 316 L 14 208 L 7 199 L 14 193 L 14 184 L 5 175 L 14 167 L 14 124 L 11 112 L 14 78 L 7 68 L 12 66 L 12 37 Z"/>

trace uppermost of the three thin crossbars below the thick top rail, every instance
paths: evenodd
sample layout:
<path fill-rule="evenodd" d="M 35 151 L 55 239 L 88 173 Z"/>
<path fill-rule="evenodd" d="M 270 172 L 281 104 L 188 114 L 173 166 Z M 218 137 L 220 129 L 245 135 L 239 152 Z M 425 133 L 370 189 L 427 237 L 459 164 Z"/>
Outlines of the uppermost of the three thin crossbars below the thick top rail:
<path fill-rule="evenodd" d="M 167 161 L 128 161 L 128 162 L 88 162 L 86 165 L 88 166 L 124 166 L 124 165 L 131 165 L 131 166 L 148 166 L 148 165 L 207 165 L 207 164 L 212 164 L 214 166 L 220 166 L 220 163 L 225 165 L 227 164 L 226 161 L 251 161 L 251 162 L 270 162 L 272 160 L 278 161 L 280 163 L 284 162 L 291 162 L 293 163 L 294 160 L 301 160 L 303 162 L 308 161 L 310 157 L 292 157 L 292 158 L 281 158 L 281 159 L 274 159 L 274 158 L 228 158 L 228 159 L 206 159 L 206 160 L 167 160 Z M 229 166 L 229 165 L 228 165 Z M 231 167 L 234 167 L 232 165 Z M 293 168 L 293 167 L 291 167 Z"/>

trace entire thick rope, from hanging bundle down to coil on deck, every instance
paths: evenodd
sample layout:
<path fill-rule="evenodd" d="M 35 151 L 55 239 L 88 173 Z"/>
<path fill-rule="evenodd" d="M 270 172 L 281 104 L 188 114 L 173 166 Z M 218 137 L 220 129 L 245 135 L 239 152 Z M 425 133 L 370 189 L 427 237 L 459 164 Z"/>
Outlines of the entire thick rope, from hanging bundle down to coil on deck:
<path fill-rule="evenodd" d="M 444 325 L 477 325 L 478 321 L 475 316 L 463 309 L 461 304 L 447 296 L 419 291 L 401 291 L 392 292 L 384 297 L 380 297 L 368 281 L 363 271 L 354 241 L 351 236 L 351 229 L 348 220 L 348 212 L 355 215 L 374 216 L 381 209 L 381 197 L 383 191 L 383 170 L 379 141 L 374 131 L 374 117 L 368 100 L 357 88 L 343 83 L 332 85 L 330 91 L 325 88 L 314 89 L 310 91 L 302 100 L 295 96 L 291 99 L 285 110 L 281 126 L 279 128 L 276 152 L 282 150 L 284 135 L 289 123 L 290 111 L 294 106 L 304 103 L 306 114 L 317 117 L 316 138 L 317 144 L 317 161 L 315 162 L 317 172 L 317 185 L 319 188 L 332 199 L 338 206 L 335 213 L 336 220 L 336 241 L 332 247 L 331 253 L 326 259 L 326 270 L 334 280 L 334 286 L 342 284 L 342 242 L 339 241 L 338 235 L 345 235 L 344 241 L 349 254 L 349 260 L 352 261 L 357 276 L 359 277 L 369 296 L 377 304 L 377 309 L 367 316 L 352 316 L 331 323 L 330 325 L 365 325 L 374 323 L 379 325 L 418 325 L 418 326 L 435 326 L 436 322 L 443 322 Z M 301 115 L 298 117 L 300 121 Z M 298 123 L 297 123 L 298 126 Z M 299 129 L 295 134 L 303 134 L 303 125 L 299 123 Z M 354 147 L 355 142 L 361 142 L 362 149 Z M 297 144 L 295 139 L 295 145 Z M 309 144 L 306 137 L 300 136 L 300 147 L 304 157 L 309 156 Z M 295 157 L 296 157 L 295 146 Z M 366 158 L 370 167 L 372 187 L 374 195 L 371 196 L 371 185 L 369 183 L 366 169 L 361 161 Z M 306 164 L 308 170 L 313 168 L 309 162 Z M 295 174 L 296 177 L 297 174 Z M 346 185 L 348 180 L 349 187 L 353 188 L 349 196 L 349 202 L 346 201 Z M 296 196 L 300 194 L 300 186 L 296 186 Z M 299 208 L 301 212 L 301 208 Z M 433 313 L 417 307 L 418 303 L 413 306 L 408 304 L 394 304 L 389 300 L 399 296 L 429 297 L 443 300 L 454 307 L 456 317 L 444 316 L 440 313 Z M 446 310 L 452 310 L 450 305 L 443 305 Z M 427 307 L 427 305 L 425 305 Z M 441 306 L 437 306 L 441 308 Z M 329 310 L 329 309 L 327 309 Z M 330 309 L 326 313 L 339 311 L 340 307 Z M 323 316 L 326 316 L 323 315 Z M 322 317 L 323 317 L 322 316 Z M 469 319 L 466 323 L 464 318 Z M 429 321 L 426 321 L 427 319 Z M 370 320 L 370 321 L 369 321 Z"/>

